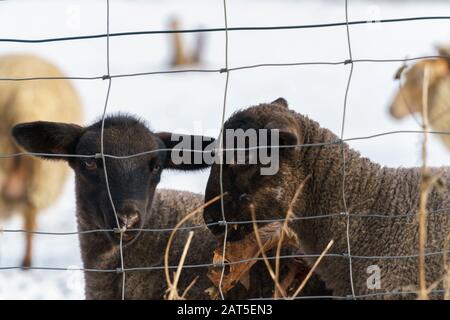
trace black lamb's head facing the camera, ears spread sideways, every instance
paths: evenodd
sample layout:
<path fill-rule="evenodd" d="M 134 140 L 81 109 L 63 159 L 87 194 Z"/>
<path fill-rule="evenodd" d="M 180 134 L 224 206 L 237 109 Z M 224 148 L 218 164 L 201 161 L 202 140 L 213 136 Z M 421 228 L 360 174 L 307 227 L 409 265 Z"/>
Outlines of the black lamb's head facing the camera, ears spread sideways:
<path fill-rule="evenodd" d="M 175 135 L 153 133 L 142 121 L 126 115 L 105 119 L 103 162 L 101 132 L 102 121 L 88 127 L 31 122 L 19 124 L 12 130 L 14 138 L 25 150 L 40 153 L 41 157 L 50 160 L 65 160 L 74 170 L 78 220 L 83 229 L 141 229 L 149 218 L 146 215 L 151 212 L 149 209 L 164 168 L 195 170 L 206 166 L 198 162 L 176 164 L 172 161 L 169 150 L 176 147 L 179 140 L 193 136 L 180 135 L 172 141 Z M 123 241 L 130 244 L 139 233 L 125 231 Z M 106 234 L 114 244 L 118 243 L 120 234 Z"/>

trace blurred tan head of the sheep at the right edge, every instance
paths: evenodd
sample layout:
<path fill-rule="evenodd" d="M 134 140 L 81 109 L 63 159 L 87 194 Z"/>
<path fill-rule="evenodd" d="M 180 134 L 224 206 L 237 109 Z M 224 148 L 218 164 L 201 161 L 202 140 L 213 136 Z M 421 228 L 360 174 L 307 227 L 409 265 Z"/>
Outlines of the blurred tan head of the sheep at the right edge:
<path fill-rule="evenodd" d="M 406 69 L 402 85 L 389 108 L 392 117 L 402 119 L 409 114 L 422 112 L 425 68 L 429 70 L 428 90 L 432 92 L 441 79 L 450 75 L 450 60 L 445 58 L 421 60 Z"/>

